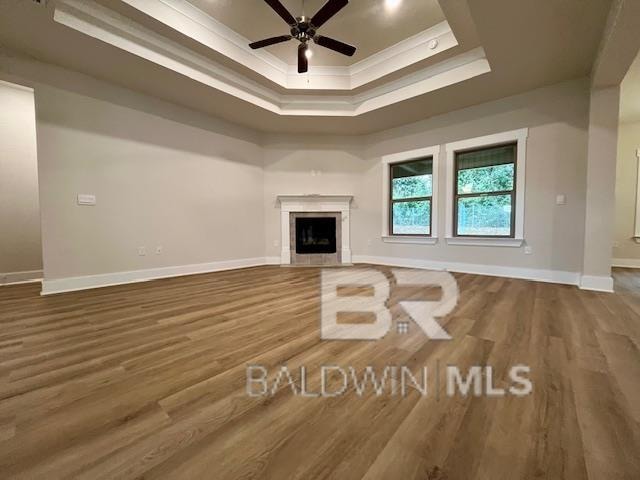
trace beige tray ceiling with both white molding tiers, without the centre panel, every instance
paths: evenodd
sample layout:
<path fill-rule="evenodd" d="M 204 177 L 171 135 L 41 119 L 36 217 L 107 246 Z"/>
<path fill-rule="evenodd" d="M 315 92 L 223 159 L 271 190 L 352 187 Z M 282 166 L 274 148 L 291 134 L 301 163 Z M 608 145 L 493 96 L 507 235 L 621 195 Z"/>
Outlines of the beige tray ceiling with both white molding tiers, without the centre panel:
<path fill-rule="evenodd" d="M 93 77 L 257 131 L 359 135 L 589 75 L 610 5 L 441 0 L 446 20 L 435 26 L 353 65 L 297 75 L 187 0 L 5 0 L 0 77 L 24 75 L 36 92 L 36 71 L 62 89 L 84 91 Z"/>

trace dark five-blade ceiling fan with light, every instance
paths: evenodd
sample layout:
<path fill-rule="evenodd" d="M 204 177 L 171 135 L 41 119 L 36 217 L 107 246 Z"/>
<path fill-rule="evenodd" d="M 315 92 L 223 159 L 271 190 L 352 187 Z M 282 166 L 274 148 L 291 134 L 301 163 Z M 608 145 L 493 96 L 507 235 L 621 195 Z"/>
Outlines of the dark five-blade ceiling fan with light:
<path fill-rule="evenodd" d="M 291 27 L 291 34 L 266 38 L 258 42 L 250 43 L 249 46 L 254 50 L 257 48 L 268 47 L 269 45 L 275 45 L 276 43 L 288 42 L 292 38 L 295 38 L 300 42 L 300 45 L 298 45 L 298 73 L 305 73 L 309 70 L 309 59 L 307 58 L 309 40 L 313 40 L 322 47 L 349 57 L 356 53 L 356 47 L 334 40 L 333 38 L 323 37 L 317 33 L 318 29 L 324 25 L 327 20 L 333 17 L 349 3 L 349 0 L 329 0 L 310 19 L 305 16 L 298 18 L 294 17 L 279 0 L 264 1 L 289 24 Z"/>

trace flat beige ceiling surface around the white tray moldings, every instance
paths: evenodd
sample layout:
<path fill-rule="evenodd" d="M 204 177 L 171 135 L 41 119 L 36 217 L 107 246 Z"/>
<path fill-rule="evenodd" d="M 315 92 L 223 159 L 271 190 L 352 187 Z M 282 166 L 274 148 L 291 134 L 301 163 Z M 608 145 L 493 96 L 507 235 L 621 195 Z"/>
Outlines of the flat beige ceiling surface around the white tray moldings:
<path fill-rule="evenodd" d="M 243 2 L 219 1 L 233 4 Z M 122 0 L 100 2 L 129 16 L 132 24 L 143 24 L 145 28 L 171 38 L 172 41 L 179 41 L 182 46 L 187 46 L 194 52 L 206 53 L 208 58 L 250 81 L 260 82 L 278 93 L 284 91 L 275 88 L 272 81 L 261 78 L 261 75 L 246 65 L 188 38 L 184 32 L 172 30 L 166 24 L 136 12 Z M 345 11 L 357 2 L 358 0 L 352 0 Z M 368 2 L 380 4 L 383 0 Z M 591 70 L 611 4 L 609 0 L 442 1 L 441 8 L 459 45 L 398 70 L 385 79 L 372 83 L 371 87 L 377 87 L 380 82 L 389 78 L 403 81 L 425 66 L 438 65 L 447 58 L 455 58 L 452 56 L 464 54 L 478 46 L 486 52 L 491 65 L 490 73 L 399 100 L 356 117 L 318 117 L 288 116 L 267 111 L 171 68 L 67 28 L 52 18 L 56 3 L 55 0 L 50 0 L 49 5 L 43 8 L 26 0 L 1 0 L 0 49 L 79 71 L 259 131 L 343 135 L 366 134 L 397 127 L 544 85 L 586 76 Z M 277 24 L 279 18 L 275 14 L 274 17 Z M 335 36 L 348 40 L 345 36 L 347 33 L 337 31 Z M 0 58 L 0 62 L 2 60 Z M 0 71 L 2 70 L 6 71 L 7 67 L 0 64 Z M 65 88 L 66 80 L 58 81 L 61 78 L 63 76 L 56 79 L 57 85 Z M 298 93 L 297 96 L 306 95 L 305 98 L 324 101 L 337 93 L 311 89 Z"/>

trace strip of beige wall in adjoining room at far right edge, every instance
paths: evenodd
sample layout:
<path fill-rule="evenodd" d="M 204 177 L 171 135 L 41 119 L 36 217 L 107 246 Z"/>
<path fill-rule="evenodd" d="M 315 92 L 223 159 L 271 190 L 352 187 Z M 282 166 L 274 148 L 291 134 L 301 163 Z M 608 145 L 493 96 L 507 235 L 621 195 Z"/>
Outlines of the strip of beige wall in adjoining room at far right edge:
<path fill-rule="evenodd" d="M 640 122 L 621 124 L 618 129 L 616 169 L 616 215 L 614 265 L 640 267 L 640 244 L 633 240 L 636 216 L 636 187 L 640 148 Z"/>

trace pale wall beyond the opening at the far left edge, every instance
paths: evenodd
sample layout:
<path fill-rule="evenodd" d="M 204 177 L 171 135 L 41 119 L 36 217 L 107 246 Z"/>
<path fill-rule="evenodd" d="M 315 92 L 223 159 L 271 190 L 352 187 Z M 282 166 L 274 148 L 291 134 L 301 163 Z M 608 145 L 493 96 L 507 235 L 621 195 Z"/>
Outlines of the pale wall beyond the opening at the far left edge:
<path fill-rule="evenodd" d="M 0 284 L 42 276 L 33 91 L 0 81 Z"/>

